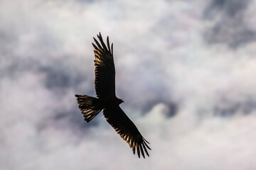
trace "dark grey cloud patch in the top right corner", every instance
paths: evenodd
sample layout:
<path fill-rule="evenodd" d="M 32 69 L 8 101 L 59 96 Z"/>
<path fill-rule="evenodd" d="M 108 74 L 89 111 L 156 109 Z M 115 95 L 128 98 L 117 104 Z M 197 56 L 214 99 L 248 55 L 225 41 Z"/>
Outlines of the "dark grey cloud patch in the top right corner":
<path fill-rule="evenodd" d="M 256 31 L 247 26 L 244 18 L 250 2 L 249 0 L 212 1 L 203 13 L 206 20 L 213 20 L 214 23 L 204 31 L 206 42 L 224 43 L 233 49 L 254 42 Z"/>

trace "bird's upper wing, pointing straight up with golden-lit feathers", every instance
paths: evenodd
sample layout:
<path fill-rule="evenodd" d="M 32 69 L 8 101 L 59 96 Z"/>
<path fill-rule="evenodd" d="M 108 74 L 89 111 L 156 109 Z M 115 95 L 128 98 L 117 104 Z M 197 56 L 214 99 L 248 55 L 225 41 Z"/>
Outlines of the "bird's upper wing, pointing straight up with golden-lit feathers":
<path fill-rule="evenodd" d="M 100 43 L 95 39 L 95 91 L 97 98 L 115 96 L 115 70 L 113 59 L 113 43 L 110 50 L 110 41 L 107 37 L 107 46 L 102 40 L 102 35 L 97 35 Z"/>

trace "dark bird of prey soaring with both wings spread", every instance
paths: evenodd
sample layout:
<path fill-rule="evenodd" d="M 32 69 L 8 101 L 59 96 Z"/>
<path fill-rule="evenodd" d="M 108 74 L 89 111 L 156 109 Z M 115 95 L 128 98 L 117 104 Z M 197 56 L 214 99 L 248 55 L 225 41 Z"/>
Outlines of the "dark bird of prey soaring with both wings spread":
<path fill-rule="evenodd" d="M 95 91 L 96 96 L 78 95 L 79 108 L 85 117 L 87 123 L 103 110 L 103 115 L 112 128 L 127 142 L 132 152 L 135 154 L 137 150 L 138 157 L 140 154 L 145 158 L 145 154 L 149 157 L 147 149 L 150 149 L 147 142 L 132 120 L 122 111 L 119 104 L 123 103 L 122 99 L 117 98 L 115 94 L 115 69 L 113 58 L 113 43 L 110 48 L 110 41 L 107 37 L 107 46 L 102 40 L 102 35 L 99 33 L 92 46 L 95 48 Z M 150 149 L 151 150 L 151 149 Z"/>

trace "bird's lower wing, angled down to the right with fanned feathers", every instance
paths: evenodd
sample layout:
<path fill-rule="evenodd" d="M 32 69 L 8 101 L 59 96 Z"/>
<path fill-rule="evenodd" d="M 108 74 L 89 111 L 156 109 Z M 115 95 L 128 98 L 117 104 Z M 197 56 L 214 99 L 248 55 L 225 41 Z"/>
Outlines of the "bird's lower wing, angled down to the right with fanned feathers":
<path fill-rule="evenodd" d="M 142 156 L 145 158 L 144 152 L 149 156 L 149 153 L 146 150 L 146 148 L 150 149 L 149 146 L 146 145 L 146 143 L 149 142 L 142 137 L 132 120 L 128 118 L 119 106 L 103 109 L 103 115 L 107 119 L 107 122 L 112 125 L 114 130 L 128 143 L 129 147 L 132 148 L 134 154 L 135 149 L 137 149 L 138 157 L 140 157 L 140 154 L 142 153 Z"/>

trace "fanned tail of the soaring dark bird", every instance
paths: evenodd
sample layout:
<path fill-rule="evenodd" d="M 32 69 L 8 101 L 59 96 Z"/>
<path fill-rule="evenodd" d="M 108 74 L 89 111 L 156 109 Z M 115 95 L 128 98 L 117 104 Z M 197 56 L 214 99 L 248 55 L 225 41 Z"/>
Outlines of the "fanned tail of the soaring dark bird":
<path fill-rule="evenodd" d="M 82 111 L 82 114 L 85 117 L 85 121 L 90 122 L 95 116 L 100 113 L 102 108 L 95 106 L 95 101 L 97 98 L 86 96 L 86 95 L 75 95 L 78 98 L 79 108 Z"/>

